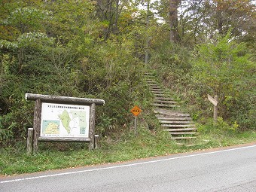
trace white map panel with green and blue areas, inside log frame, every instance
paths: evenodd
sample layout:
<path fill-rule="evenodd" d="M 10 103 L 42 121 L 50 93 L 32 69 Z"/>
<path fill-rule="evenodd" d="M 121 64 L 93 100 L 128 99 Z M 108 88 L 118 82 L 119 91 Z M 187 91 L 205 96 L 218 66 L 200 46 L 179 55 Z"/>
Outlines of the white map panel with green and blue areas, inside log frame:
<path fill-rule="evenodd" d="M 89 137 L 90 106 L 42 103 L 41 137 Z"/>

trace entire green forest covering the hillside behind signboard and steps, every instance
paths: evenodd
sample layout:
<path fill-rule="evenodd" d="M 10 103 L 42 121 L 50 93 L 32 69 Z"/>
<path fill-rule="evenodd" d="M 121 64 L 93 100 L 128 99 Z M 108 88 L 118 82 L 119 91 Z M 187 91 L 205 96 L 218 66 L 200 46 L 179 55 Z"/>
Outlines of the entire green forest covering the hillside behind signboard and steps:
<path fill-rule="evenodd" d="M 195 120 L 211 116 L 205 96 L 218 94 L 224 120 L 255 128 L 253 1 L 171 2 L 1 1 L 0 145 L 32 126 L 25 93 L 105 99 L 99 133 L 130 129 L 130 108 L 148 107 L 147 68 L 184 96 Z"/>

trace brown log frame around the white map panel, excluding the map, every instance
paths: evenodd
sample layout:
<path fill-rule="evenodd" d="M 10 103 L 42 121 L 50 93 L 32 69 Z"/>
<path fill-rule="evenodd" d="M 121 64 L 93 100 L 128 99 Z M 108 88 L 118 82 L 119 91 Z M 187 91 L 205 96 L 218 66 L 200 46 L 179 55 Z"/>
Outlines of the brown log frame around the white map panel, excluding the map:
<path fill-rule="evenodd" d="M 68 97 L 68 96 L 50 96 L 50 95 L 40 95 L 40 94 L 32 94 L 32 93 L 26 93 L 25 99 L 35 101 L 32 149 L 28 149 L 28 151 L 37 152 L 38 151 L 38 142 L 90 142 L 89 149 L 96 148 L 96 144 L 95 144 L 96 105 L 104 105 L 105 104 L 104 100 Z M 87 136 L 85 136 L 85 137 L 41 136 L 41 120 L 42 120 L 41 112 L 42 112 L 42 104 L 43 103 L 48 103 L 48 104 L 53 104 L 53 105 L 56 104 L 57 107 L 59 107 L 59 105 L 61 105 L 61 104 L 64 106 L 65 105 L 81 105 L 81 106 L 85 105 L 85 107 L 90 106 L 89 130 L 88 130 L 89 133 L 87 134 Z M 66 107 L 66 108 L 68 108 L 68 107 Z M 31 133 L 30 133 L 30 135 L 31 135 Z M 29 144 L 29 145 L 31 145 L 31 144 Z"/>

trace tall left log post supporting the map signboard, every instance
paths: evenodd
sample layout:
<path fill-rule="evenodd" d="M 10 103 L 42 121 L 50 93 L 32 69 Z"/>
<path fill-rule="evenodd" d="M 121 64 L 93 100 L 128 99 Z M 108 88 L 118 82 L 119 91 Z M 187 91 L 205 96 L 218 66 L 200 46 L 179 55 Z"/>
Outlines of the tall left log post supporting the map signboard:
<path fill-rule="evenodd" d="M 35 100 L 35 110 L 34 110 L 34 141 L 33 141 L 33 152 L 36 153 L 38 151 L 38 137 L 40 136 L 40 128 L 41 128 L 41 100 Z"/>

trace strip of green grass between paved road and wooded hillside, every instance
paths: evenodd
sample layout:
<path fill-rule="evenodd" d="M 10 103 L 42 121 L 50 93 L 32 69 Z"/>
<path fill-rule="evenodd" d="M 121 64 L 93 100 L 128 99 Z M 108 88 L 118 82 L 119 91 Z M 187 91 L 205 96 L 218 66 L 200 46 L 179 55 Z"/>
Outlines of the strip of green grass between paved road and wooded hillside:
<path fill-rule="evenodd" d="M 206 129 L 207 130 L 207 129 Z M 26 172 L 40 172 L 49 169 L 64 169 L 102 163 L 117 163 L 145 157 L 198 151 L 256 142 L 256 133 L 242 133 L 218 129 L 206 131 L 197 139 L 177 144 L 163 131 L 152 132 L 139 129 L 138 135 L 132 131 L 120 134 L 116 139 L 103 138 L 101 147 L 89 151 L 84 143 L 40 143 L 37 154 L 26 154 L 25 142 L 0 149 L 0 175 L 16 175 Z"/>

